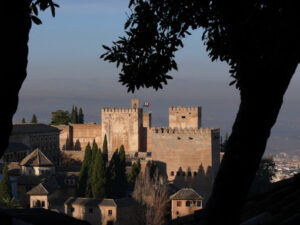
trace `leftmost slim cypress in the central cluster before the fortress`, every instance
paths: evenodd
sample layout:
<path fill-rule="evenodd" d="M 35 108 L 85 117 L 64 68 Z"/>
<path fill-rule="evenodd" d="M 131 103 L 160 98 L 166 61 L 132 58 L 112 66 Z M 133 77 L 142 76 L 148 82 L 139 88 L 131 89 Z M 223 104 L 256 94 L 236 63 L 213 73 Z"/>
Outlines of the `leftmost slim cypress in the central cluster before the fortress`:
<path fill-rule="evenodd" d="M 85 148 L 84 159 L 81 165 L 80 173 L 78 176 L 77 196 L 83 197 L 86 194 L 89 165 L 92 161 L 92 150 L 90 143 Z"/>

